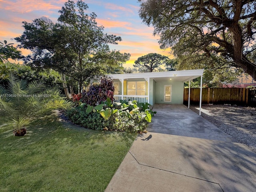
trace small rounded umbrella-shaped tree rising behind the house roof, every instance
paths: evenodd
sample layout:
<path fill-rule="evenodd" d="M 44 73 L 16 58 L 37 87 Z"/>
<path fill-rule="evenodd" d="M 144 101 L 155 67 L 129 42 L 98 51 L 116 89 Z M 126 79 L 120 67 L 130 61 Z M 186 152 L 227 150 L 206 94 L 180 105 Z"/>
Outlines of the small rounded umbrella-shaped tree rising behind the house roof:
<path fill-rule="evenodd" d="M 161 66 L 168 62 L 169 58 L 157 53 L 150 53 L 139 57 L 134 63 L 134 67 L 138 68 L 139 72 L 162 71 Z"/>

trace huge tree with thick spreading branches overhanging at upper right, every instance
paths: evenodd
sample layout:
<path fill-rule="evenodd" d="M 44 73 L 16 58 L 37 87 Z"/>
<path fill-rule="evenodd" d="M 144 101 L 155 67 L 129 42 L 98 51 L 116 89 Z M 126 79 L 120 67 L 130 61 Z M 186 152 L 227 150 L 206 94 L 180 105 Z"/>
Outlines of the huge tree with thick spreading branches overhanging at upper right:
<path fill-rule="evenodd" d="M 139 0 L 140 17 L 154 26 L 160 47 L 176 56 L 212 55 L 256 80 L 256 3 L 241 0 Z"/>

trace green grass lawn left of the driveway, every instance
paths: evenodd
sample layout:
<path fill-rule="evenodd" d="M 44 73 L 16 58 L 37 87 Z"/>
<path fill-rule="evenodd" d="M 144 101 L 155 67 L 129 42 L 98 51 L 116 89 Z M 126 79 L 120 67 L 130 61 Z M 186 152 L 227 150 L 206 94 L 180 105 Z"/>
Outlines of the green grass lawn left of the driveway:
<path fill-rule="evenodd" d="M 135 134 L 88 130 L 56 115 L 14 137 L 0 118 L 0 192 L 102 192 Z"/>

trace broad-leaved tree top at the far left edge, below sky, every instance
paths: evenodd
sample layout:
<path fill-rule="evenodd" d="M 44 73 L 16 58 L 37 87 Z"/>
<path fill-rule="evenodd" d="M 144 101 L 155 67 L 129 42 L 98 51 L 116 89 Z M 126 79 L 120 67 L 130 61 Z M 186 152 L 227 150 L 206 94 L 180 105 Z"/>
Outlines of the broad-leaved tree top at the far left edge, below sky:
<path fill-rule="evenodd" d="M 21 51 L 12 45 L 13 43 L 7 44 L 6 40 L 4 43 L 0 42 L 0 62 L 8 61 L 8 58 L 13 60 L 22 58 Z"/>

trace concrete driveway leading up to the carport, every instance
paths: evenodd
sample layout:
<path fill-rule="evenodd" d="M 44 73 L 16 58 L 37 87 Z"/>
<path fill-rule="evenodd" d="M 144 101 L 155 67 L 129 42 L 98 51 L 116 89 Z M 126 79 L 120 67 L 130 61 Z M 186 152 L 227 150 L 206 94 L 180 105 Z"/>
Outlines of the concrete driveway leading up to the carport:
<path fill-rule="evenodd" d="M 184 105 L 155 104 L 105 192 L 254 192 L 256 154 Z"/>

